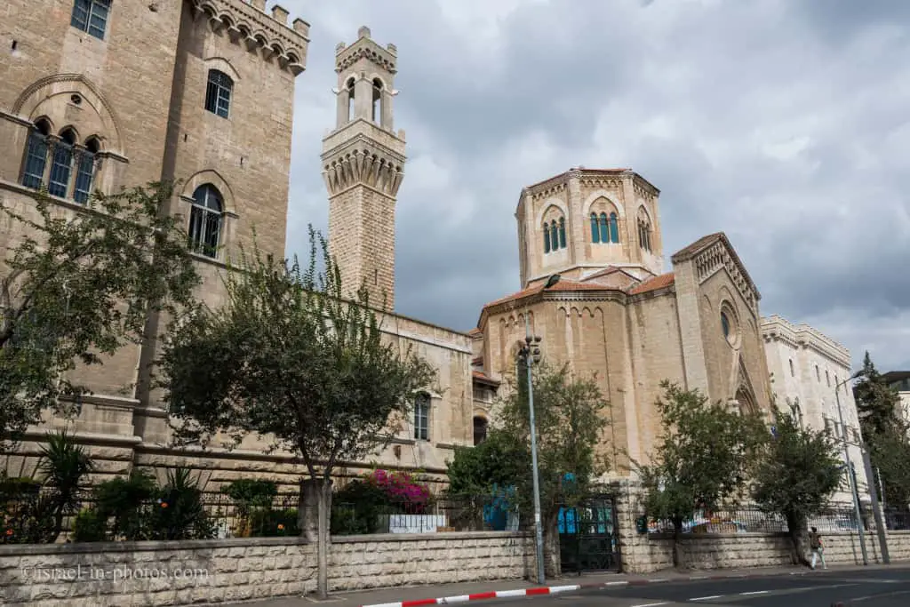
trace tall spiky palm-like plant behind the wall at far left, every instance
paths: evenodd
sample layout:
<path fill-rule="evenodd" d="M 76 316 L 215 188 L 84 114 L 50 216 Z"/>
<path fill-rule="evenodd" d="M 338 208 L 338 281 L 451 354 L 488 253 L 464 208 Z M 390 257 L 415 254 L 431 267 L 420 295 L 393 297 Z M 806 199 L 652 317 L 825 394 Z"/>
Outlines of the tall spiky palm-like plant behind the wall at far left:
<path fill-rule="evenodd" d="M 86 491 L 85 477 L 95 470 L 95 463 L 66 430 L 58 430 L 48 432 L 38 470 L 49 490 L 47 500 L 54 515 L 53 537 L 47 541 L 56 541 L 63 531 L 64 518 L 79 511 Z"/>

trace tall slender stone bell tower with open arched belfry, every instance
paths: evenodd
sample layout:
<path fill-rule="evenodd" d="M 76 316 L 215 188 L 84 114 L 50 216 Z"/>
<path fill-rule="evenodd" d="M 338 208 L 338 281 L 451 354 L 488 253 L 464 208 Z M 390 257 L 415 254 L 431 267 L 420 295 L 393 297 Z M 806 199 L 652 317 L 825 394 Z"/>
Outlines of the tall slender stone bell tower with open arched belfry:
<path fill-rule="evenodd" d="M 392 130 L 398 55 L 360 27 L 351 46 L 335 50 L 338 99 L 334 130 L 322 139 L 322 176 L 329 190 L 329 253 L 341 288 L 361 285 L 371 307 L 395 307 L 395 204 L 404 178 L 404 131 Z"/>

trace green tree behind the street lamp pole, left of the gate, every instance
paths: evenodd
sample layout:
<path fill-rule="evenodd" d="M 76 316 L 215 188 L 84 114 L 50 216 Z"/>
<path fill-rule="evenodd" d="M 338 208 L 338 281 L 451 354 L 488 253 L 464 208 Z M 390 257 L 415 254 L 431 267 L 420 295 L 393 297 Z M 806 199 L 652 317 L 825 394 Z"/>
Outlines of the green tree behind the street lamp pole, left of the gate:
<path fill-rule="evenodd" d="M 525 369 L 520 369 L 517 378 L 507 377 L 505 396 L 496 404 L 495 418 L 500 430 L 491 434 L 501 431 L 507 445 L 521 444 L 525 451 L 521 458 L 515 459 L 523 470 L 511 470 L 504 465 L 498 468 L 503 481 L 507 474 L 520 474 L 516 486 L 522 511 L 530 513 L 533 511 L 531 424 Z M 559 576 L 559 511 L 562 506 L 575 505 L 590 495 L 596 478 L 606 471 L 606 460 L 598 456 L 596 448 L 608 423 L 603 410 L 610 403 L 604 400 L 594 378 L 575 377 L 568 365 L 535 364 L 532 369 L 544 562 L 548 576 Z"/>

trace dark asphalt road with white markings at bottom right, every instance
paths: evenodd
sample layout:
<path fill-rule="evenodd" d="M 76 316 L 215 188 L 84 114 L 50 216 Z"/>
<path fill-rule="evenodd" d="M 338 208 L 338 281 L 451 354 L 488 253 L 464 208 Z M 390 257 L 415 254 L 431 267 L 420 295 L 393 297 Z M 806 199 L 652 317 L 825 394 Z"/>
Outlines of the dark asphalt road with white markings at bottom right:
<path fill-rule="evenodd" d="M 910 569 L 662 582 L 522 601 L 533 607 L 832 607 L 837 602 L 850 607 L 907 607 Z"/>

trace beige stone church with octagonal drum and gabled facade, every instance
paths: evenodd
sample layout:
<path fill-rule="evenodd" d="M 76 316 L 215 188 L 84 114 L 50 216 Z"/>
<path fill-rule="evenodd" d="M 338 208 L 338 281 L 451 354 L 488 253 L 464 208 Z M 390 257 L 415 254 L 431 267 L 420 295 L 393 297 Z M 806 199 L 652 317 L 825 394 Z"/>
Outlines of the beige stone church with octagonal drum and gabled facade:
<path fill-rule="evenodd" d="M 619 476 L 630 459 L 649 460 L 662 379 L 742 410 L 770 406 L 758 289 L 723 233 L 672 255 L 665 272 L 659 195 L 622 168 L 572 168 L 525 187 L 522 290 L 487 304 L 474 332 L 475 369 L 491 378 L 513 369 L 526 318 L 545 357 L 594 374 L 611 403 L 602 445 Z"/>

